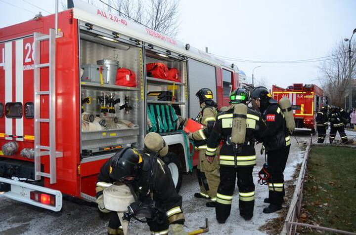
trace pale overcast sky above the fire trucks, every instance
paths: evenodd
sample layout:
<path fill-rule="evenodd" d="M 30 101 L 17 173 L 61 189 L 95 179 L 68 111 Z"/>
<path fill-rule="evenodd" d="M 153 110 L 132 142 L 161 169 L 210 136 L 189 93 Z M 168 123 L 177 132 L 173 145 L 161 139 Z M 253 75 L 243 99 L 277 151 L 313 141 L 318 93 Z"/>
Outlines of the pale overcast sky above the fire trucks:
<path fill-rule="evenodd" d="M 0 4 L 0 28 L 26 21 L 38 11 L 54 12 L 54 0 Z M 181 0 L 180 19 L 178 39 L 202 50 L 209 47 L 210 53 L 253 61 L 303 60 L 327 56 L 351 36 L 356 0 Z M 253 68 L 262 66 L 254 75 L 268 85 L 319 83 L 320 62 L 233 63 L 249 77 Z"/>

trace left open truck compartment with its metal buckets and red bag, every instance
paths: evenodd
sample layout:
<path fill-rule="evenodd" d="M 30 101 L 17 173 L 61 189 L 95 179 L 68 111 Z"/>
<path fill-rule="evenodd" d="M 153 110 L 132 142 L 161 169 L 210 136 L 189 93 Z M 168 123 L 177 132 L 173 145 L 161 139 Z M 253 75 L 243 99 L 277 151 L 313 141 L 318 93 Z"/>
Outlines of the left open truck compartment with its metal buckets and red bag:
<path fill-rule="evenodd" d="M 84 68 L 82 157 L 103 156 L 127 146 L 142 146 L 143 140 L 139 138 L 145 117 L 144 112 L 139 112 L 144 110 L 143 97 L 139 95 L 143 77 L 142 49 L 118 40 L 105 40 L 83 30 L 80 49 L 81 67 Z M 100 67 L 104 68 L 104 83 L 100 83 Z M 135 87 L 130 75 L 130 82 L 117 79 L 118 68 L 134 73 Z M 89 75 L 91 79 L 85 79 Z"/>

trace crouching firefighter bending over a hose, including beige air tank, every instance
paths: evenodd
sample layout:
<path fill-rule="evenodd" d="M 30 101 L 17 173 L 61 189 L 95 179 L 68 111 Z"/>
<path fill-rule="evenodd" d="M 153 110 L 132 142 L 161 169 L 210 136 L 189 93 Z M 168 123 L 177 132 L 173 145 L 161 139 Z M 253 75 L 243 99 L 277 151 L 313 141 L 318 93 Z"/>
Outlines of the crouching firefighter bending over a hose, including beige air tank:
<path fill-rule="evenodd" d="M 144 143 L 143 151 L 125 148 L 100 169 L 96 198 L 99 210 L 111 213 L 108 234 L 121 235 L 124 232 L 118 214 L 105 209 L 105 188 L 125 183 L 135 200 L 129 205 L 124 220 L 146 218 L 143 222 L 147 222 L 153 235 L 168 234 L 169 226 L 172 234 L 186 235 L 183 230 L 182 197 L 176 192 L 169 168 L 158 157 L 168 154 L 168 146 L 157 133 L 147 134 Z"/>

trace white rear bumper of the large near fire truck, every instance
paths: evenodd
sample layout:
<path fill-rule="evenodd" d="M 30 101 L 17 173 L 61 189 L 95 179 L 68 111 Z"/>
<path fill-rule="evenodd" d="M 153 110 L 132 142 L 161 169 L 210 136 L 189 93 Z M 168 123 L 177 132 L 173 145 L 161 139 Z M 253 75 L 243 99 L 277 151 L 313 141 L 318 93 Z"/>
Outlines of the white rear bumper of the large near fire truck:
<path fill-rule="evenodd" d="M 2 177 L 0 177 L 0 182 L 10 184 L 11 187 L 10 191 L 0 194 L 0 197 L 8 197 L 17 201 L 22 201 L 52 211 L 60 211 L 62 209 L 62 193 L 58 190 L 52 190 L 42 186 L 32 185 L 29 183 L 6 179 Z M 55 196 L 55 205 L 46 205 L 38 201 L 32 200 L 30 198 L 31 191 L 39 191 L 41 193 Z"/>

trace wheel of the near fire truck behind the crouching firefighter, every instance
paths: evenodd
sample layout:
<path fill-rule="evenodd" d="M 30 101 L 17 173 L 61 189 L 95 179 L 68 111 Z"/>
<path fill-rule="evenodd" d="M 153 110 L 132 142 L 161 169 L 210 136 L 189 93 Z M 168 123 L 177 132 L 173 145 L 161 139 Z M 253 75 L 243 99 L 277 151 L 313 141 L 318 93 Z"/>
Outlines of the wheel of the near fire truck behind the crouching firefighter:
<path fill-rule="evenodd" d="M 175 154 L 168 154 L 168 156 L 163 157 L 163 161 L 171 171 L 173 183 L 175 184 L 177 193 L 179 193 L 183 177 L 182 164 L 179 157 Z"/>

